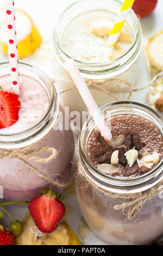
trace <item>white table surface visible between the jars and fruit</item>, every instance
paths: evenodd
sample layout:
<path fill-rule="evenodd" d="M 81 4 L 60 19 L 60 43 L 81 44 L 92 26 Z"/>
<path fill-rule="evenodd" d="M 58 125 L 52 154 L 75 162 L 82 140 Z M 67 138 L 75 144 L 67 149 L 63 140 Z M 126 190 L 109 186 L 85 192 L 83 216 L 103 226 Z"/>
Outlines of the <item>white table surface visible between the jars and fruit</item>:
<path fill-rule="evenodd" d="M 89 1 L 89 0 L 88 0 Z M 53 76 L 53 44 L 52 44 L 52 33 L 55 20 L 58 15 L 65 7 L 74 2 L 73 0 L 15 0 L 15 5 L 26 11 L 33 19 L 41 35 L 43 36 L 43 41 L 45 45 L 41 47 L 39 51 L 39 56 L 41 59 L 37 58 L 37 53 L 33 56 L 28 57 L 26 60 L 29 63 L 35 64 L 39 68 L 47 72 L 49 76 Z M 0 8 L 3 7 L 3 1 L 0 3 Z M 144 36 L 144 44 L 147 44 L 148 38 L 152 35 L 158 33 L 163 29 L 163 0 L 158 0 L 158 5 L 154 12 L 141 20 Z M 45 54 L 47 52 L 47 54 Z M 44 57 L 46 56 L 46 57 Z M 6 59 L 6 57 L 0 57 L 0 62 Z M 65 195 L 66 196 L 66 195 Z M 74 210 L 71 215 L 67 215 L 66 218 L 71 228 L 78 234 L 78 227 L 81 223 L 80 219 L 82 217 L 78 202 L 75 196 L 66 196 L 67 205 L 71 206 Z M 27 208 L 22 208 L 20 206 L 10 206 L 8 207 L 11 215 L 18 220 L 24 218 L 24 214 L 27 212 Z M 5 217 L 5 222 L 8 222 L 8 218 Z M 80 238 L 80 236 L 79 236 Z M 84 240 L 85 245 L 106 245 L 106 243 L 93 234 L 91 231 Z"/>

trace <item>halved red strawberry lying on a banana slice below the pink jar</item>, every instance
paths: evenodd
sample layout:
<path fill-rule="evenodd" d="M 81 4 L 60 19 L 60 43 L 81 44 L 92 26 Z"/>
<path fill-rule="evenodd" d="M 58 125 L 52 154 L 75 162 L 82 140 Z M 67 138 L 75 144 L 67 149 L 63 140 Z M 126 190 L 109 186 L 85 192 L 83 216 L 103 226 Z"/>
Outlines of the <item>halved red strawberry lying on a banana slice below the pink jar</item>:
<path fill-rule="evenodd" d="M 29 211 L 37 228 L 43 233 L 51 233 L 65 213 L 65 206 L 53 193 L 34 197 L 29 203 Z"/>

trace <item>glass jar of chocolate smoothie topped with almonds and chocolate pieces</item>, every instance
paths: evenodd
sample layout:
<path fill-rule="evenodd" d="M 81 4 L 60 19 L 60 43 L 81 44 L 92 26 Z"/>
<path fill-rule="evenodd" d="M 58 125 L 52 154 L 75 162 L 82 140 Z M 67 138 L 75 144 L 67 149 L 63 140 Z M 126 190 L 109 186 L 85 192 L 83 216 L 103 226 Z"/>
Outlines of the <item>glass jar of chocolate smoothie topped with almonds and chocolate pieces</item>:
<path fill-rule="evenodd" d="M 102 111 L 112 115 L 112 139 L 92 130 L 91 119 L 79 139 L 76 188 L 83 217 L 111 245 L 153 243 L 163 234 L 162 183 L 153 194 L 163 177 L 163 121 L 135 102 L 115 102 Z"/>

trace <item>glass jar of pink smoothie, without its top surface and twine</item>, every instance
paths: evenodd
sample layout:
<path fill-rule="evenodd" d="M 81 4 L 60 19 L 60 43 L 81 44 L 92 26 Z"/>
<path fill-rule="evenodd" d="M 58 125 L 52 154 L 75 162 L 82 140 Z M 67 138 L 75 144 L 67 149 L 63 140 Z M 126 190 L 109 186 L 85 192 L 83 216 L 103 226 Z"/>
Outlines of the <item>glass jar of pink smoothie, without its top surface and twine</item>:
<path fill-rule="evenodd" d="M 40 172 L 58 182 L 66 183 L 70 180 L 74 155 L 74 139 L 71 130 L 57 130 L 56 123 L 59 113 L 59 102 L 54 84 L 49 77 L 39 69 L 27 63 L 20 62 L 20 79 L 29 77 L 40 83 L 48 96 L 48 109 L 42 119 L 29 129 L 3 134 L 0 131 L 0 150 L 22 149 L 32 144 L 33 148 L 51 147 L 57 150 L 57 156 L 47 163 L 23 160 L 32 164 Z M 8 62 L 0 64 L 0 77 L 10 74 Z M 41 95 L 40 95 L 41 100 Z M 62 111 L 60 109 L 60 111 Z M 51 152 L 35 153 L 32 156 L 47 158 Z M 38 174 L 16 157 L 0 160 L 0 185 L 3 187 L 3 197 L 8 200 L 29 200 L 36 196 L 42 188 L 53 187 L 49 182 L 41 179 Z"/>

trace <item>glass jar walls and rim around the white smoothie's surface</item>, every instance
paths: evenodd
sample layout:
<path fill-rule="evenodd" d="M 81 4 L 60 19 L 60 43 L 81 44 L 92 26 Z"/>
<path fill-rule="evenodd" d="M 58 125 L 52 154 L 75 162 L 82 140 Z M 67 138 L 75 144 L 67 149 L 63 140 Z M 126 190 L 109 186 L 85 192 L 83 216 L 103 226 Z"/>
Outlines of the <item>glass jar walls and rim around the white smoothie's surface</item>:
<path fill-rule="evenodd" d="M 122 3 L 117 0 L 81 0 L 70 5 L 70 7 L 61 14 L 55 25 L 53 34 L 54 49 L 57 56 L 54 62 L 53 76 L 54 80 L 56 80 L 55 87 L 58 94 L 72 86 L 72 83 L 70 85 L 67 82 L 67 79 L 70 79 L 70 75 L 64 66 L 65 60 L 71 58 L 71 56 L 65 52 L 62 45 L 66 28 L 68 31 L 74 24 L 76 25 L 78 21 L 81 22 L 84 17 L 89 15 L 93 19 L 95 16 L 91 13 L 95 11 L 100 11 L 101 16 L 110 16 L 111 19 L 115 21 L 121 6 Z M 106 91 L 103 92 L 101 88 L 95 89 L 95 87 L 92 88 L 90 86 L 92 96 L 98 107 L 108 102 L 115 101 L 115 99 L 127 100 L 129 88 L 122 81 L 117 82 L 117 79 L 128 81 L 133 90 L 141 89 L 150 79 L 148 60 L 142 49 L 142 29 L 139 19 L 133 10 L 130 11 L 127 17 L 125 27 L 133 38 L 133 42 L 122 56 L 104 63 L 89 63 L 74 59 L 82 76 L 86 78 L 88 82 L 95 82 L 98 87 L 97 81 L 102 81 L 104 89 L 108 90 L 108 92 L 115 97 L 111 98 Z M 115 78 L 116 80 L 104 82 L 109 78 Z M 85 111 L 84 102 L 76 88 L 59 94 L 59 100 L 62 106 L 70 107 L 70 112 L 78 111 L 82 113 L 82 111 Z M 147 103 L 148 88 L 133 92 L 130 100 Z"/>

